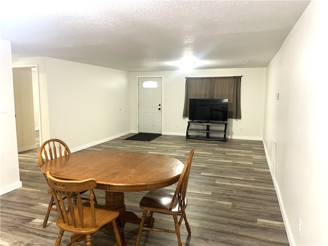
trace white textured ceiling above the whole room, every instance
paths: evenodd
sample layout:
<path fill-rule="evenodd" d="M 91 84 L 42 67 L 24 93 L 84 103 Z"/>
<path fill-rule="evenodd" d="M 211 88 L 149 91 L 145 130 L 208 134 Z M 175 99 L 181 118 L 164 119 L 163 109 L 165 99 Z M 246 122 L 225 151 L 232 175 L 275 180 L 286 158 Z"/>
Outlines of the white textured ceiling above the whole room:
<path fill-rule="evenodd" d="M 267 67 L 310 1 L 2 1 L 1 36 L 19 56 L 127 71 Z"/>

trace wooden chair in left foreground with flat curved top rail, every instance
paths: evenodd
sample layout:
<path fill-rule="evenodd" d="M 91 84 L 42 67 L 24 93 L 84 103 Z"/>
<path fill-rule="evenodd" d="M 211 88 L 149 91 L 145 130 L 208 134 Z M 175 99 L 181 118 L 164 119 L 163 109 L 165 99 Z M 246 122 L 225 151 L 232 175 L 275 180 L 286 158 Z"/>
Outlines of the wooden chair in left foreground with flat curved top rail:
<path fill-rule="evenodd" d="M 60 230 L 55 246 L 60 245 L 61 237 L 63 237 L 65 231 L 75 235 L 71 237 L 71 241 L 67 245 L 81 245 L 77 241 L 85 238 L 86 245 L 91 246 L 92 234 L 108 223 L 111 223 L 115 234 L 116 243 L 113 245 L 122 246 L 116 225 L 119 211 L 94 202 L 93 189 L 97 185 L 94 178 L 79 181 L 61 180 L 51 176 L 49 171 L 47 172 L 47 177 L 59 214 L 56 224 Z M 81 199 L 81 192 L 85 191 L 89 191 L 88 203 L 83 203 Z M 75 197 L 77 199 L 76 206 L 74 206 L 73 201 Z"/>

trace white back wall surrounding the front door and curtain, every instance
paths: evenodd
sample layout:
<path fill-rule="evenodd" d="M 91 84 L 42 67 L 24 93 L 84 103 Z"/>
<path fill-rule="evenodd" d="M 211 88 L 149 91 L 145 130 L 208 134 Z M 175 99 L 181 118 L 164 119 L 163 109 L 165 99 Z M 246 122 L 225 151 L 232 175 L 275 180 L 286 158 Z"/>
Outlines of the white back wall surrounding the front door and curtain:
<path fill-rule="evenodd" d="M 182 117 L 187 77 L 242 75 L 241 120 L 229 119 L 228 137 L 262 140 L 266 68 L 130 72 L 131 130 L 137 132 L 137 77 L 162 76 L 162 134 L 186 135 L 188 118 Z M 178 128 L 176 127 L 178 125 Z M 243 131 L 240 131 L 240 127 Z"/>

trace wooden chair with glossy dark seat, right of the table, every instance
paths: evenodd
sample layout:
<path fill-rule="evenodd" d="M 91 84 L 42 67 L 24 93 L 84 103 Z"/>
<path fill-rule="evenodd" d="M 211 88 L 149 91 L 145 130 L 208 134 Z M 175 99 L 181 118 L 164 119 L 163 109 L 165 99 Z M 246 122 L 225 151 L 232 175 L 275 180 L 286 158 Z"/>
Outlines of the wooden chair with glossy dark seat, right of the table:
<path fill-rule="evenodd" d="M 194 150 L 191 150 L 186 160 L 185 166 L 183 167 L 182 173 L 180 175 L 174 193 L 167 189 L 153 190 L 148 192 L 140 200 L 140 208 L 144 210 L 144 212 L 142 213 L 142 218 L 139 226 L 137 239 L 135 241 L 135 246 L 139 245 L 140 235 L 142 230 L 176 233 L 176 236 L 178 238 L 178 245 L 182 246 L 182 242 L 180 238 L 180 224 L 182 220 L 185 220 L 188 234 L 191 234 L 185 209 L 187 207 L 186 192 L 187 192 L 188 179 L 189 179 L 189 173 L 190 173 L 193 156 L 194 156 Z M 153 228 L 154 212 L 173 215 L 175 230 L 173 231 L 168 229 Z M 181 217 L 178 221 L 179 215 Z M 149 221 L 148 227 L 144 227 L 146 219 Z"/>

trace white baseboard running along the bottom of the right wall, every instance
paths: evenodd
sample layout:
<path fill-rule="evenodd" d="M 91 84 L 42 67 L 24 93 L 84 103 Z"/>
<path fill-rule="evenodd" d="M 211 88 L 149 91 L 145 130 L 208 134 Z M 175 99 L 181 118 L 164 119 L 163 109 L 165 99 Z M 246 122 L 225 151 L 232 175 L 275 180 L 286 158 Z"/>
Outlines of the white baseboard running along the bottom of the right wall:
<path fill-rule="evenodd" d="M 280 193 L 280 190 L 279 190 L 277 180 L 276 180 L 276 178 L 274 176 L 274 172 L 271 168 L 272 165 L 271 165 L 271 161 L 270 161 L 270 158 L 269 158 L 269 155 L 268 155 L 267 146 L 265 146 L 264 140 L 262 140 L 262 141 L 263 141 L 263 146 L 264 146 L 265 157 L 267 158 L 269 170 L 270 170 L 271 177 L 272 177 L 272 180 L 273 180 L 273 185 L 274 185 L 276 193 L 277 193 L 278 203 L 279 203 L 279 207 L 280 207 L 280 211 L 281 211 L 282 220 L 283 220 L 283 223 L 284 223 L 284 226 L 285 226 L 285 229 L 286 229 L 287 238 L 288 238 L 289 244 L 291 246 L 293 246 L 293 245 L 295 245 L 295 240 L 293 238 L 290 223 L 289 223 L 288 217 L 286 216 L 286 210 L 285 210 L 285 207 L 283 206 L 283 201 L 282 201 L 282 197 L 281 197 L 281 193 Z"/>

